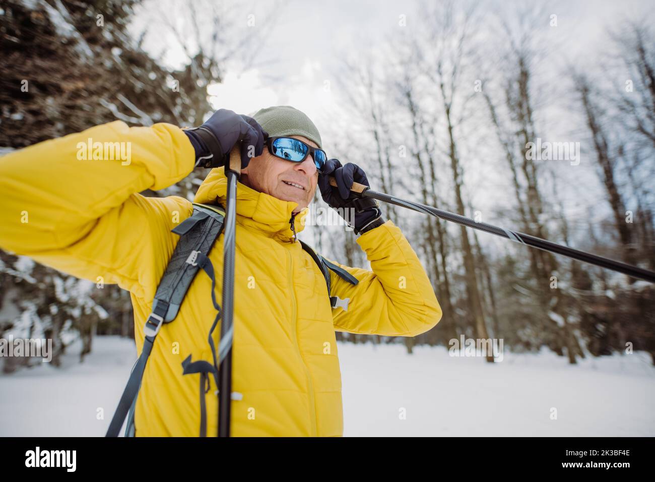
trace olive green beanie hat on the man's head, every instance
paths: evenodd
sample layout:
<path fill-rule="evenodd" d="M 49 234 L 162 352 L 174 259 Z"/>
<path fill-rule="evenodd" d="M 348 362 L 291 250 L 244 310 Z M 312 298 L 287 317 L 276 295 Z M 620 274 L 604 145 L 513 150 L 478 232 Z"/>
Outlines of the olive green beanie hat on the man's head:
<path fill-rule="evenodd" d="M 304 136 L 322 149 L 321 134 L 305 113 L 291 106 L 274 106 L 258 110 L 253 119 L 269 136 Z"/>

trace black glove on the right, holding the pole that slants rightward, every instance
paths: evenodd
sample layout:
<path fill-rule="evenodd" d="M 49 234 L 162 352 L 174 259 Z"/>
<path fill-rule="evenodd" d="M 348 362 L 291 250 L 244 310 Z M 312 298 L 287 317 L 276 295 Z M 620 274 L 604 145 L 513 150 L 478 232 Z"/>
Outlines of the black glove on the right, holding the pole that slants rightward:
<path fill-rule="evenodd" d="M 337 187 L 330 186 L 329 177 L 334 176 L 337 180 Z M 339 159 L 328 159 L 322 174 L 318 174 L 318 188 L 321 190 L 323 200 L 346 219 L 346 209 L 354 209 L 354 222 L 350 224 L 356 234 L 369 231 L 381 224 L 384 219 L 381 217 L 380 207 L 371 197 L 361 197 L 358 193 L 350 190 L 353 182 L 369 186 L 364 170 L 356 164 L 347 163 L 341 165 Z M 346 220 L 347 221 L 347 220 Z"/>

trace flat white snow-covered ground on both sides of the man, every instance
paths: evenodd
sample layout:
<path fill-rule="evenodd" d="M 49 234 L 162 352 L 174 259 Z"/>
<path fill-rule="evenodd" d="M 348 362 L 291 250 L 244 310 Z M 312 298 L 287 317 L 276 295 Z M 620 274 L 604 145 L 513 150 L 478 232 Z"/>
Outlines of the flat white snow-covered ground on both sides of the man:
<path fill-rule="evenodd" d="M 62 369 L 41 363 L 0 375 L 0 436 L 104 435 L 136 350 L 103 336 L 84 363 L 77 353 Z M 575 367 L 548 352 L 505 353 L 492 364 L 445 348 L 407 355 L 404 346 L 339 344 L 339 356 L 346 436 L 655 435 L 655 369 L 645 353 Z"/>

